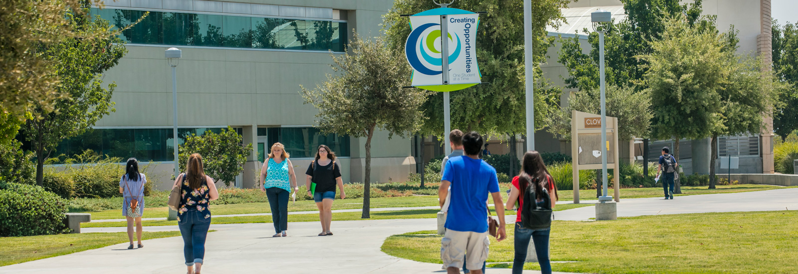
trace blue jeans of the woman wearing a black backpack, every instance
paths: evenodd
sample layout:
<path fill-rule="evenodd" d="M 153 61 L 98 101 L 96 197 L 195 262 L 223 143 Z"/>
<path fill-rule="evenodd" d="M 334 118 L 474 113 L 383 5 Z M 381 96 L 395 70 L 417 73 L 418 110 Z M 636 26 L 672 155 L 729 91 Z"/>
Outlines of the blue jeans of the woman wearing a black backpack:
<path fill-rule="evenodd" d="M 526 229 L 520 222 L 516 223 L 516 256 L 512 260 L 512 274 L 523 272 L 523 263 L 527 260 L 529 241 L 535 243 L 535 254 L 538 256 L 540 272 L 551 274 L 551 261 L 548 257 L 548 238 L 551 229 Z"/>

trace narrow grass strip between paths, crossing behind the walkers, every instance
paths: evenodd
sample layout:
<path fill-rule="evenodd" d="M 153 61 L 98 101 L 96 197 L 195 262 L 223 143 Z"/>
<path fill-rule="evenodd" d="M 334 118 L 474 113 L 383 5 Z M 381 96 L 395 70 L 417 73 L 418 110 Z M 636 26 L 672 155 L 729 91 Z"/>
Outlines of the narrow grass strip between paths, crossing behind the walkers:
<path fill-rule="evenodd" d="M 591 206 L 593 204 L 568 204 L 557 205 L 555 211 L 565 209 L 575 209 L 577 207 Z M 212 213 L 215 213 L 211 209 Z M 423 219 L 437 217 L 438 209 L 415 209 L 415 210 L 399 210 L 399 211 L 373 211 L 369 220 L 385 220 L 385 219 Z M 515 211 L 508 211 L 507 213 L 515 214 Z M 333 213 L 333 221 L 355 221 L 361 219 L 360 212 L 345 212 Z M 318 221 L 318 214 L 295 214 L 288 215 L 288 221 Z M 245 216 L 245 217 L 213 217 L 212 224 L 241 224 L 241 223 L 271 223 L 271 216 Z M 142 221 L 144 226 L 156 225 L 177 225 L 177 221 Z M 82 228 L 87 227 L 122 227 L 127 226 L 126 221 L 107 221 L 107 222 L 88 222 L 81 223 Z"/>

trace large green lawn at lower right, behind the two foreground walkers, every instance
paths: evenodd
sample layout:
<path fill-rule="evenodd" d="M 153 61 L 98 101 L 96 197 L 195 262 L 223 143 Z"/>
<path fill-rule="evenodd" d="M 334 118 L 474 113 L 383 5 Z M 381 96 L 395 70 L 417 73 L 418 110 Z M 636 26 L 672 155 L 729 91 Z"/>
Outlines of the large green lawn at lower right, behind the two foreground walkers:
<path fill-rule="evenodd" d="M 699 213 L 555 221 L 551 260 L 555 272 L 587 273 L 798 273 L 798 212 Z M 490 262 L 513 259 L 508 240 L 492 239 Z M 440 264 L 440 236 L 433 231 L 395 235 L 382 251 Z M 512 267 L 510 264 L 490 264 Z M 526 264 L 526 269 L 539 269 Z"/>

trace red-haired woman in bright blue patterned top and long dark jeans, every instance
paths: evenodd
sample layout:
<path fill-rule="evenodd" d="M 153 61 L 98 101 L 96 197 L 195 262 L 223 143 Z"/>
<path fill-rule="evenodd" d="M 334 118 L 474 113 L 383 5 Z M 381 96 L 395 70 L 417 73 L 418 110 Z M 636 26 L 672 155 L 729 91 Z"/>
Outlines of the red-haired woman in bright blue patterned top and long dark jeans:
<path fill-rule="evenodd" d="M 275 225 L 276 233 L 272 237 L 288 236 L 288 194 L 292 188 L 299 190 L 289 156 L 282 143 L 275 143 L 271 145 L 269 159 L 260 169 L 260 182 L 263 182 L 260 190 L 266 192 L 271 205 L 271 221 Z"/>

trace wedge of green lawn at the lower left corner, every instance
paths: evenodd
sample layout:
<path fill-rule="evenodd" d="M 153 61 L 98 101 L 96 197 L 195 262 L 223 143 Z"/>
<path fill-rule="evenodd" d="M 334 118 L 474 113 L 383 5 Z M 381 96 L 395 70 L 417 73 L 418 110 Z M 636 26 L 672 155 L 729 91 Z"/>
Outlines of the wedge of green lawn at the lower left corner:
<path fill-rule="evenodd" d="M 180 231 L 144 232 L 143 240 L 177 237 Z M 79 233 L 30 237 L 0 237 L 0 266 L 128 242 L 128 233 Z"/>

